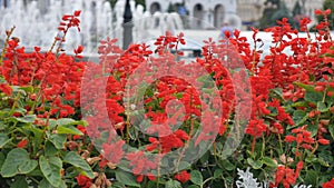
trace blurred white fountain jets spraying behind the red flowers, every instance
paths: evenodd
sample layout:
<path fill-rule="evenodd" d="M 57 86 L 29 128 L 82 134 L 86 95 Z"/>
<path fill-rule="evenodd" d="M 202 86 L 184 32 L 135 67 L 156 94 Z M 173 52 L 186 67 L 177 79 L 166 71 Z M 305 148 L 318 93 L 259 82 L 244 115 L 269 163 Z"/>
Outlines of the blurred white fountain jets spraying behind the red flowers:
<path fill-rule="evenodd" d="M 39 46 L 42 50 L 49 50 L 55 37 L 59 34 L 57 28 L 61 17 L 81 10 L 80 28 L 69 30 L 65 49 L 72 51 L 78 44 L 85 47 L 85 52 L 95 53 L 99 40 L 107 37 L 118 38 L 122 41 L 122 14 L 125 0 L 118 0 L 114 10 L 109 2 L 102 0 L 49 0 L 49 7 L 40 10 L 38 1 L 31 1 L 27 6 L 22 0 L 11 0 L 10 7 L 0 6 L 0 38 L 6 38 L 6 30 L 16 26 L 13 37 L 20 38 L 21 44 L 29 48 Z M 148 37 L 148 29 L 159 29 L 171 32 L 183 29 L 177 13 L 155 13 L 144 11 L 144 7 L 135 6 L 130 0 L 134 14 L 134 41 L 143 41 Z M 154 23 L 154 24 L 153 24 Z M 119 43 L 119 44 L 120 44 Z M 1 47 L 0 47 L 1 48 Z"/>

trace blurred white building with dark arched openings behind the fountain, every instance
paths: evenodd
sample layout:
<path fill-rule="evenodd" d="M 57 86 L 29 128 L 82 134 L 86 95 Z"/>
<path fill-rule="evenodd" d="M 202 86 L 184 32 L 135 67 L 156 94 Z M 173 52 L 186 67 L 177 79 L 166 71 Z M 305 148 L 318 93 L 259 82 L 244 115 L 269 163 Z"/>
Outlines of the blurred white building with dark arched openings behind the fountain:
<path fill-rule="evenodd" d="M 220 28 L 224 22 L 240 27 L 236 0 L 146 0 L 146 9 L 151 14 L 176 11 L 188 16 L 185 24 L 190 29 Z"/>

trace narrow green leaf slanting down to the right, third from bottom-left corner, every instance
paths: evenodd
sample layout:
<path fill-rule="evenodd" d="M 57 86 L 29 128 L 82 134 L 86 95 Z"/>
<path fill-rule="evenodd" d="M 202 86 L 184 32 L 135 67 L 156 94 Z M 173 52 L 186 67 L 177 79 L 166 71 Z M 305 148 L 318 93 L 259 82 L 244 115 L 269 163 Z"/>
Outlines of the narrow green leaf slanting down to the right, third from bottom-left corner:
<path fill-rule="evenodd" d="M 84 175 L 94 178 L 92 170 L 90 166 L 75 151 L 69 151 L 66 157 L 63 158 L 63 162 L 70 164 L 77 168 L 84 170 Z"/>

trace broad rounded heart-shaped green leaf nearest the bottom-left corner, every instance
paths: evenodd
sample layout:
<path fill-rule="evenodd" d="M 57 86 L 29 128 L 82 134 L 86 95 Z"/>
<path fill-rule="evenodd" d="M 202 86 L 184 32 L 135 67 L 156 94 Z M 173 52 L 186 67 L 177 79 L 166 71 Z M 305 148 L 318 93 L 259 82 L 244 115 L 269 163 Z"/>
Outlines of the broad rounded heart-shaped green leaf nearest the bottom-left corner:
<path fill-rule="evenodd" d="M 37 167 L 37 161 L 30 160 L 24 149 L 16 148 L 8 152 L 1 167 L 1 175 L 4 178 L 13 177 L 18 174 L 28 174 Z"/>

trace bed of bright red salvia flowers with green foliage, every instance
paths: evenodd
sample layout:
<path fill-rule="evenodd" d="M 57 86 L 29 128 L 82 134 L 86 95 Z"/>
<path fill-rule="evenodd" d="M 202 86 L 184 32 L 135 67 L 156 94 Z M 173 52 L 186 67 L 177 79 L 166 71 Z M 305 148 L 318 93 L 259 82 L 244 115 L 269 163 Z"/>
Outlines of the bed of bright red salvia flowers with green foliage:
<path fill-rule="evenodd" d="M 316 33 L 301 20 L 308 38 L 277 21 L 266 30 L 274 46 L 263 59 L 253 29 L 254 47 L 236 30 L 219 43 L 205 41 L 193 63 L 178 60 L 183 33 L 160 36 L 155 51 L 145 43 L 121 50 L 107 38 L 96 65 L 80 60 L 81 46 L 75 56 L 62 52 L 68 29 L 80 30 L 79 16 L 63 16 L 62 38 L 48 52 L 24 52 L 7 31 L 2 187 L 261 187 L 249 171 L 267 187 L 333 187 L 326 17 Z"/>

